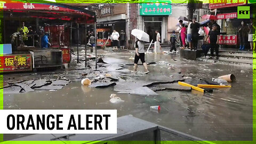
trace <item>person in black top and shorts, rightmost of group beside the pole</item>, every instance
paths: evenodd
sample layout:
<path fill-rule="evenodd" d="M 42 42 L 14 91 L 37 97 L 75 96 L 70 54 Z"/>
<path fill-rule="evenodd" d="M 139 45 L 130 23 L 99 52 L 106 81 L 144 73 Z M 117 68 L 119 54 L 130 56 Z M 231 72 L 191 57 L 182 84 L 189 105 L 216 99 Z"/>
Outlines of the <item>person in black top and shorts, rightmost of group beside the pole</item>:
<path fill-rule="evenodd" d="M 216 59 L 219 59 L 219 36 L 220 33 L 217 30 L 217 26 L 213 25 L 212 30 L 209 31 L 209 34 L 205 38 L 205 43 L 207 42 L 207 39 L 210 37 L 210 47 L 211 47 L 211 56 L 210 59 L 213 57 L 213 52 L 215 50 Z"/>

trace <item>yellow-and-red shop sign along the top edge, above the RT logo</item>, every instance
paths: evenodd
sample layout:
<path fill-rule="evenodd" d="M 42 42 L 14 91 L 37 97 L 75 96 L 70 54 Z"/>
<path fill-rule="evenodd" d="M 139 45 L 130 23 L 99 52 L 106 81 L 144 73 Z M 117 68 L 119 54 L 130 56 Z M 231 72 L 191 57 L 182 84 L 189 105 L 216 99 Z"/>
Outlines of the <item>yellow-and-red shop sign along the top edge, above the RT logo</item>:
<path fill-rule="evenodd" d="M 210 0 L 210 9 L 218 9 L 223 7 L 234 7 L 247 4 L 247 0 Z"/>

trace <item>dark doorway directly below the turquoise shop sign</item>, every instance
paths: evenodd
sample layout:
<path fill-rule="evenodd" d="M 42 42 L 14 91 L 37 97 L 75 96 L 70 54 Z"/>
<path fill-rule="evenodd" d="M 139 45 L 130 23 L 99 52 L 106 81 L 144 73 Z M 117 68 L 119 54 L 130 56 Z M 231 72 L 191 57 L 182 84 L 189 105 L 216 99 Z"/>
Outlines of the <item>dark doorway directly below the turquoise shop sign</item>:
<path fill-rule="evenodd" d="M 153 39 L 153 42 L 156 41 L 156 33 L 155 31 L 158 30 L 161 38 L 162 38 L 162 17 L 145 17 L 145 30 L 149 35 L 150 42 Z"/>

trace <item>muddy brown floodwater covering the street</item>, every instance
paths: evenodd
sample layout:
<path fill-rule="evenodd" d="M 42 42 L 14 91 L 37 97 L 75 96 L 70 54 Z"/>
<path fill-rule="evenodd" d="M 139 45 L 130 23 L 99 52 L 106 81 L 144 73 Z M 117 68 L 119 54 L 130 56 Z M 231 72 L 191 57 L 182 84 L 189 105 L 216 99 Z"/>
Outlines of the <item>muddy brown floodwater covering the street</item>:
<path fill-rule="evenodd" d="M 132 52 L 101 53 L 127 61 L 134 57 Z M 169 54 L 146 54 L 146 61 L 157 62 L 148 66 L 150 74 L 130 77 L 147 80 L 152 74 L 169 76 L 181 72 L 185 77 L 197 79 L 234 74 L 237 81 L 230 83 L 231 88 L 215 89 L 213 93 L 157 91 L 157 96 L 119 94 L 113 91 L 114 86 L 97 89 L 81 86 L 77 81 L 58 91 L 4 94 L 4 109 L 117 109 L 118 117 L 133 115 L 205 140 L 252 140 L 252 68 L 183 60 L 179 55 Z M 171 63 L 171 66 L 159 64 L 159 61 Z M 128 68 L 132 70 L 132 66 Z M 143 66 L 138 70 L 143 71 Z M 12 75 L 15 74 L 4 77 Z M 111 103 L 112 93 L 124 102 Z M 161 106 L 159 113 L 150 111 L 149 107 L 155 105 Z M 17 137 L 22 135 L 5 135 L 4 139 Z"/>

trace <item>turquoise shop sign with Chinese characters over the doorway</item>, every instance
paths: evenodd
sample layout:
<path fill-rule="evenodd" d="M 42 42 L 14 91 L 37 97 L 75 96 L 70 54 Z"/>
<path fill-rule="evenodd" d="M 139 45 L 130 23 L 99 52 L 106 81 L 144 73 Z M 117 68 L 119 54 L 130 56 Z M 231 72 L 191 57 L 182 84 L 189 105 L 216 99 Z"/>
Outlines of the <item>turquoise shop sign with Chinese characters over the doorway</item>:
<path fill-rule="evenodd" d="M 170 3 L 143 3 L 140 4 L 140 15 L 170 15 L 172 5 Z"/>

